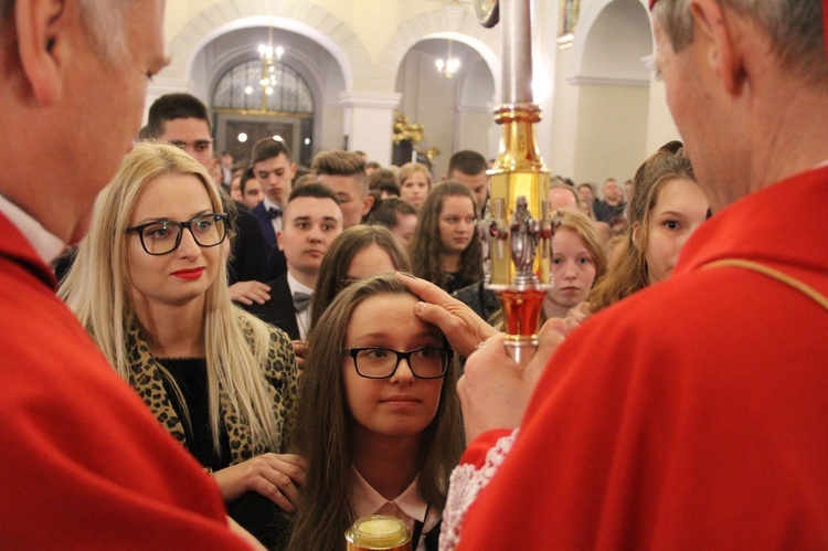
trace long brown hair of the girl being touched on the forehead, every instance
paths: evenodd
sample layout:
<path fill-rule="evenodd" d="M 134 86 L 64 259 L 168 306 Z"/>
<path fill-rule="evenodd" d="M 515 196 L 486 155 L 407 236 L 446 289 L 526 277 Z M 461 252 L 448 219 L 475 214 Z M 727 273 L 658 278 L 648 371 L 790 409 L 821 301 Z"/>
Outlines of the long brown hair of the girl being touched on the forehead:
<path fill-rule="evenodd" d="M 361 279 L 337 296 L 311 332 L 290 439 L 308 464 L 288 544 L 291 551 L 339 551 L 343 548 L 344 531 L 355 520 L 348 504 L 353 452 L 341 349 L 353 310 L 367 298 L 382 294 L 411 292 L 391 274 Z M 420 495 L 436 509 L 445 506 L 448 477 L 463 449 L 456 379 L 455 359 L 443 383 L 437 413 L 423 433 L 417 458 Z"/>

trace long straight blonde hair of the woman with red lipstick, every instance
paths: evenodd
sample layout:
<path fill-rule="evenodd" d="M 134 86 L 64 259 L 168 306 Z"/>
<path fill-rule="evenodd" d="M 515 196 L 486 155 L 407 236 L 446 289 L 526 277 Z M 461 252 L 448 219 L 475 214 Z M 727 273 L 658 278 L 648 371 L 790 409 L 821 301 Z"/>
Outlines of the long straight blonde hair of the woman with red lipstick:
<path fill-rule="evenodd" d="M 134 308 L 128 294 L 126 229 L 147 184 L 173 174 L 198 178 L 208 191 L 214 211 L 223 211 L 217 188 L 198 161 L 173 146 L 138 144 L 121 162 L 115 179 L 98 195 L 89 234 L 81 242 L 77 258 L 59 292 L 118 374 L 128 382 L 126 320 L 134 315 Z M 276 451 L 280 431 L 266 382 L 264 378 L 255 377 L 267 361 L 269 330 L 264 322 L 233 305 L 226 280 L 226 266 L 222 262 L 204 301 L 203 338 L 213 445 L 216 451 L 220 448 L 219 389 L 224 389 L 233 407 L 250 424 L 254 446 Z M 140 325 L 139 319 L 136 321 Z M 252 336 L 245 336 L 245 327 L 252 330 Z M 163 369 L 162 372 L 178 393 L 169 373 Z M 187 412 L 183 415 L 189 423 Z"/>

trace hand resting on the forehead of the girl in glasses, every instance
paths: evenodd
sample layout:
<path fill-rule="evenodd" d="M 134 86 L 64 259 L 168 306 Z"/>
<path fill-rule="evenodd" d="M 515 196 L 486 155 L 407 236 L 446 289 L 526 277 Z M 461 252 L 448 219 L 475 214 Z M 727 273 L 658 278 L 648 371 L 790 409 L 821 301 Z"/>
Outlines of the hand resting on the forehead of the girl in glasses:
<path fill-rule="evenodd" d="M 423 301 L 414 306 L 414 314 L 426 324 L 437 326 L 457 353 L 467 358 L 478 345 L 498 335 L 475 311 L 433 283 L 418 277 L 396 274 L 397 279 Z"/>

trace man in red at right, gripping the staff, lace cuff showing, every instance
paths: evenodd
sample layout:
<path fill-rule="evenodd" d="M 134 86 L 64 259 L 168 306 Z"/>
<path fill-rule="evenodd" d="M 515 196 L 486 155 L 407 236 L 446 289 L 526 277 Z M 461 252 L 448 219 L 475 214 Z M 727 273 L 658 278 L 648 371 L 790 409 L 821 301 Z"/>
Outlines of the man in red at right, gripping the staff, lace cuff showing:
<path fill-rule="evenodd" d="M 444 549 L 828 548 L 825 6 L 651 8 L 714 215 L 671 279 L 556 349 L 548 325 L 526 370 L 500 337 L 471 354 Z M 459 309 L 426 298 L 450 338 Z"/>

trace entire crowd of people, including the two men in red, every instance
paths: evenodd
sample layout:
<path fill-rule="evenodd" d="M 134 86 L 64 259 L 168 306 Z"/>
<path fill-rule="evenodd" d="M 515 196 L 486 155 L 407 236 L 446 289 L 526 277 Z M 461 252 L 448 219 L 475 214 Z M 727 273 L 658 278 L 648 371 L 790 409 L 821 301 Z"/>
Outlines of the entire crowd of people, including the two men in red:
<path fill-rule="evenodd" d="M 162 1 L 34 4 L 0 2 L 3 545 L 335 550 L 369 515 L 429 551 L 828 545 L 820 0 L 650 2 L 686 141 L 552 179 L 527 365 L 482 155 L 234 163 L 190 94 L 138 128 Z M 125 91 L 95 133 L 89 81 Z"/>

